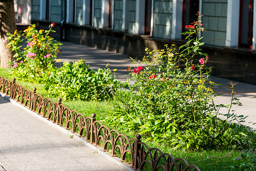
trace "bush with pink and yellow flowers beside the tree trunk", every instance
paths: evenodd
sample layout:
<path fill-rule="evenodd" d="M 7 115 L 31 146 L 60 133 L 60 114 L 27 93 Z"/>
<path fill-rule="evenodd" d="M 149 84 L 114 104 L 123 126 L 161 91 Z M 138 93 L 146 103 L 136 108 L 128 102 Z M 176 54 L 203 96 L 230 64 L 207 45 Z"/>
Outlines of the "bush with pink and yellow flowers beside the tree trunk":
<path fill-rule="evenodd" d="M 50 32 L 55 32 L 52 27 L 54 23 L 49 30 L 38 31 L 35 25 L 31 25 L 23 32 L 15 30 L 14 34 L 8 34 L 10 42 L 7 48 L 14 53 L 12 76 L 30 82 L 43 82 L 48 72 L 55 69 L 54 62 L 62 43 L 48 36 Z M 22 46 L 24 42 L 25 47 Z"/>

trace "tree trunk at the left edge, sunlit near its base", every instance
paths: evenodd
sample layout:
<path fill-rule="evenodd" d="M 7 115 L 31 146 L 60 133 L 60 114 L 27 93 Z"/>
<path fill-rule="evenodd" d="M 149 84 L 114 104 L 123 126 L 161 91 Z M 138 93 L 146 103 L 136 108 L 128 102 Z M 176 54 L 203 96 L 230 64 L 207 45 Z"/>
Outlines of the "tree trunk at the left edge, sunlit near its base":
<path fill-rule="evenodd" d="M 9 48 L 6 48 L 8 40 L 7 33 L 15 31 L 14 0 L 0 1 L 0 63 L 3 68 L 10 68 L 9 61 L 13 60 L 13 55 Z"/>

